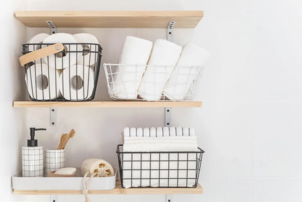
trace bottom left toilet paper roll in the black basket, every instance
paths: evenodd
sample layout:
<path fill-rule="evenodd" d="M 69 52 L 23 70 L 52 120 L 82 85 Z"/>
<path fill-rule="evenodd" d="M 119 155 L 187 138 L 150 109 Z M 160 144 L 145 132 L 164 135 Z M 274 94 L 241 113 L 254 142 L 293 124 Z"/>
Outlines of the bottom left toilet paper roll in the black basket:
<path fill-rule="evenodd" d="M 59 78 L 59 73 L 53 68 L 48 68 L 47 64 L 32 65 L 25 75 L 29 95 L 37 100 L 58 98 L 61 95 Z"/>

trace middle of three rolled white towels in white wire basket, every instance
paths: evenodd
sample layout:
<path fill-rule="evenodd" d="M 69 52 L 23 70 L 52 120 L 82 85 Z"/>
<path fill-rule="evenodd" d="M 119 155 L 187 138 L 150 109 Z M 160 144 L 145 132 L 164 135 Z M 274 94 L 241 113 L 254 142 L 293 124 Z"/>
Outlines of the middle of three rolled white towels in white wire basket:
<path fill-rule="evenodd" d="M 148 101 L 162 98 L 165 83 L 170 78 L 181 52 L 181 46 L 165 39 L 156 40 L 138 89 L 141 98 Z"/>

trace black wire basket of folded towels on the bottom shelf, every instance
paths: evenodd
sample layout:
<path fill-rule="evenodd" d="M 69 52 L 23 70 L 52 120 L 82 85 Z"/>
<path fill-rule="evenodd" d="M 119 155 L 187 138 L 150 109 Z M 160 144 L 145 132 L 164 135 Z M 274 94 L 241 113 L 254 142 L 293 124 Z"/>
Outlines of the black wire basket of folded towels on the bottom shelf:
<path fill-rule="evenodd" d="M 194 152 L 123 152 L 117 145 L 122 188 L 196 188 L 202 154 Z"/>

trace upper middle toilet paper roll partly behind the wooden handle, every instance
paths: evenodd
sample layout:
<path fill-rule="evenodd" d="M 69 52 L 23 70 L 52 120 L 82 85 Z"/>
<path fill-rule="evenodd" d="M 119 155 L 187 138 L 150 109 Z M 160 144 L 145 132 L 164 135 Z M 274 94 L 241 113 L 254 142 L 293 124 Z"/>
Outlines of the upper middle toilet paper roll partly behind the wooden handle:
<path fill-rule="evenodd" d="M 77 43 L 76 39 L 71 34 L 66 33 L 56 33 L 48 36 L 46 39 L 44 39 L 43 43 Z M 46 47 L 44 45 L 43 47 Z M 83 48 L 81 45 L 64 45 L 65 51 L 83 51 Z M 48 59 L 47 59 L 48 57 Z M 49 55 L 47 57 L 44 57 L 44 61 L 46 64 L 49 64 L 50 67 L 56 68 L 56 69 L 64 69 L 66 67 L 72 66 L 77 63 L 82 58 L 82 52 L 78 53 L 56 53 Z"/>

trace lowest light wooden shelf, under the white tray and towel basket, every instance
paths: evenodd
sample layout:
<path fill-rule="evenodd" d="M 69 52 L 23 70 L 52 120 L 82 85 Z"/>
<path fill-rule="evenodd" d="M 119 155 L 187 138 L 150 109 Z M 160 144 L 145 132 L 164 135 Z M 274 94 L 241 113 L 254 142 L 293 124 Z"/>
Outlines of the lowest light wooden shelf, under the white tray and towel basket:
<path fill-rule="evenodd" d="M 116 182 L 112 190 L 89 190 L 88 194 L 203 194 L 203 188 L 200 184 L 196 188 L 127 188 Z M 83 194 L 82 190 L 14 190 L 18 195 L 69 195 Z"/>

